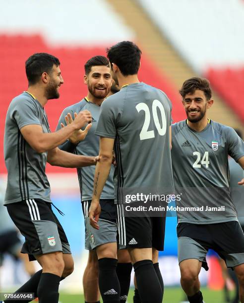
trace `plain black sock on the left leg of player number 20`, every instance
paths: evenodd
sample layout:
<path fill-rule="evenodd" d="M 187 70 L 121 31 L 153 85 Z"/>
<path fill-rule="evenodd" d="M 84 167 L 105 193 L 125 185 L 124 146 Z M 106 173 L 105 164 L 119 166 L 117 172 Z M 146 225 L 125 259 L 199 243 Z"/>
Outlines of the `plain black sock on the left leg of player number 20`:
<path fill-rule="evenodd" d="M 151 260 L 142 260 L 134 265 L 137 289 L 143 303 L 162 303 L 163 293 Z M 150 283 L 149 283 L 150 281 Z"/>

